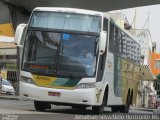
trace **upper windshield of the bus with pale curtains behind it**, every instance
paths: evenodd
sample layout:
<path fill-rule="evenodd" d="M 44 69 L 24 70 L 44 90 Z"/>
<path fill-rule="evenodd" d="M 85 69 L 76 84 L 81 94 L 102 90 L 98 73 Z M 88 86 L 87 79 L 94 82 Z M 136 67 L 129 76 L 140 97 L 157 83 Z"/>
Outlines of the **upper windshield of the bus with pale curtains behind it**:
<path fill-rule="evenodd" d="M 30 27 L 99 33 L 101 17 L 95 15 L 36 11 Z"/>

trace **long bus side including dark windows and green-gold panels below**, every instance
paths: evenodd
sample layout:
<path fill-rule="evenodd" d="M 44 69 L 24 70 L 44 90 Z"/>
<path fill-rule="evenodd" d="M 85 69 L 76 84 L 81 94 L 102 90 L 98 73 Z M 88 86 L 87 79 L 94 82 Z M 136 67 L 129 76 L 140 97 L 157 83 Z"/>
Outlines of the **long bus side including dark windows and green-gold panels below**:
<path fill-rule="evenodd" d="M 139 64 L 140 58 L 140 46 L 137 40 L 128 34 L 125 30 L 121 29 L 113 21 L 110 22 L 109 27 L 109 55 L 107 59 L 112 61 L 113 81 L 110 86 L 113 90 L 113 94 L 109 92 L 110 96 L 114 98 L 121 98 L 121 103 L 116 103 L 110 100 L 113 105 L 125 105 L 127 95 L 133 98 L 132 103 L 136 101 L 137 88 L 139 80 Z M 112 59 L 111 59 L 112 57 Z M 133 90 L 133 95 L 132 95 Z"/>

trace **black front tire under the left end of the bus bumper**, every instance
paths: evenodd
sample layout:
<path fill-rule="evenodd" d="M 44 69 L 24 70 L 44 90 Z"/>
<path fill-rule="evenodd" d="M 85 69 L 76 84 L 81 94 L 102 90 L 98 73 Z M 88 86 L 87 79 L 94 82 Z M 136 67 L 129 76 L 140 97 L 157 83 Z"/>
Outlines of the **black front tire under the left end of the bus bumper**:
<path fill-rule="evenodd" d="M 34 107 L 37 111 L 45 111 L 45 109 L 51 109 L 51 104 L 47 102 L 34 101 Z"/>

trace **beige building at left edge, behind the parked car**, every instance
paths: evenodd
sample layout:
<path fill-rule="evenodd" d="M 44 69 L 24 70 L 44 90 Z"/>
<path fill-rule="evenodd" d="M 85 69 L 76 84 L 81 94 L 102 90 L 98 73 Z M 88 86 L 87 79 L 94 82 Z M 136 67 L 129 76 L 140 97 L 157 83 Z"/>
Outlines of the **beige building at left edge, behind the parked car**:
<path fill-rule="evenodd" d="M 10 80 L 16 87 L 17 47 L 10 42 L 11 39 L 13 38 L 0 36 L 0 74 L 3 79 Z M 9 42 L 5 42 L 5 40 Z"/>

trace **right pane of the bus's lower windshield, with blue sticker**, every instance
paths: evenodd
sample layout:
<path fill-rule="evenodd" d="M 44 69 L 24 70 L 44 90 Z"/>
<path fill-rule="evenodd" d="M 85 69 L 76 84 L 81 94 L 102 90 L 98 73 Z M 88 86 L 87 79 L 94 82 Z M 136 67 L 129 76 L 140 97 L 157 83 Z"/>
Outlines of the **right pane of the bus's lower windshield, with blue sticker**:
<path fill-rule="evenodd" d="M 96 37 L 63 34 L 58 71 L 94 75 Z"/>

